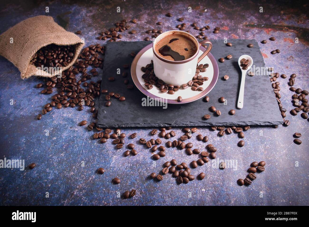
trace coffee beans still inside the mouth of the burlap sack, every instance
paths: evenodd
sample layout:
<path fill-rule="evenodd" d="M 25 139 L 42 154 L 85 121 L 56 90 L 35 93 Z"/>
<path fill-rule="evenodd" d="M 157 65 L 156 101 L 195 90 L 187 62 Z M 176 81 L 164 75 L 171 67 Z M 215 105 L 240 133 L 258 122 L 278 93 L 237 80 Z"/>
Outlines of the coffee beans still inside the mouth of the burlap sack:
<path fill-rule="evenodd" d="M 36 67 L 66 67 L 74 58 L 75 46 L 49 44 L 40 48 L 30 61 Z"/>

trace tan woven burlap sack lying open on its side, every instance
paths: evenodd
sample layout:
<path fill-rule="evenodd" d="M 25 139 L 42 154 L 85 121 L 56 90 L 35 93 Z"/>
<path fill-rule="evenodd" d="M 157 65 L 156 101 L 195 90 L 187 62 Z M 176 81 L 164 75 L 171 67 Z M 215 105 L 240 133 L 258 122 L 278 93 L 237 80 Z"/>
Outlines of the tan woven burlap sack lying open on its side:
<path fill-rule="evenodd" d="M 12 43 L 11 38 L 13 38 Z M 33 54 L 49 44 L 75 45 L 76 47 L 74 59 L 69 65 L 61 68 L 60 74 L 74 64 L 84 45 L 77 35 L 64 30 L 54 22 L 52 17 L 36 16 L 16 24 L 0 35 L 0 54 L 19 69 L 20 77 L 23 79 L 32 75 L 53 77 L 57 72 L 50 74 L 30 64 Z"/>

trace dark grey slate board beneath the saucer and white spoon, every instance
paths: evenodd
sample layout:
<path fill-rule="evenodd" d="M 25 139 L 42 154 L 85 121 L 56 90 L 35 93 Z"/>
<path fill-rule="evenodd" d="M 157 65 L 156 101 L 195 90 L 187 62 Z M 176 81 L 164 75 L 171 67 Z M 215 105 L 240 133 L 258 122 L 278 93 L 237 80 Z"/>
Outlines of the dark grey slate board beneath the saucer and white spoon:
<path fill-rule="evenodd" d="M 227 126 L 227 125 L 276 125 L 282 124 L 282 117 L 279 111 L 277 100 L 273 93 L 269 76 L 246 76 L 244 90 L 244 106 L 237 108 L 241 72 L 238 66 L 238 58 L 243 54 L 252 57 L 256 67 L 264 67 L 265 63 L 256 40 L 229 40 L 233 44 L 228 47 L 223 40 L 213 40 L 211 53 L 217 59 L 219 66 L 219 78 L 213 90 L 207 95 L 209 102 L 203 99 L 184 104 L 168 104 L 163 107 L 142 106 L 142 98 L 146 97 L 134 85 L 130 76 L 130 67 L 124 69 L 123 65 L 130 64 L 133 57 L 131 52 L 138 53 L 151 41 L 137 42 L 112 42 L 108 43 L 105 52 L 104 68 L 101 89 L 108 92 L 119 93 L 125 96 L 125 101 L 120 102 L 111 97 L 112 104 L 105 106 L 105 94 L 99 98 L 99 112 L 97 125 L 99 127 L 160 127 L 160 126 Z M 247 44 L 252 43 L 253 48 L 248 48 Z M 230 60 L 219 62 L 220 57 L 231 54 Z M 123 78 L 117 74 L 117 69 L 128 72 L 128 76 Z M 224 80 L 224 75 L 229 79 Z M 159 75 L 158 75 L 159 76 Z M 115 77 L 115 81 L 108 81 L 109 77 Z M 134 86 L 128 89 L 124 80 L 128 79 L 129 84 Z M 227 105 L 219 103 L 220 97 L 227 99 Z M 146 97 L 147 98 L 147 97 Z M 210 112 L 209 107 L 214 106 L 221 111 L 220 116 Z M 228 112 L 235 109 L 235 115 Z M 203 116 L 210 114 L 210 119 L 205 120 Z"/>

